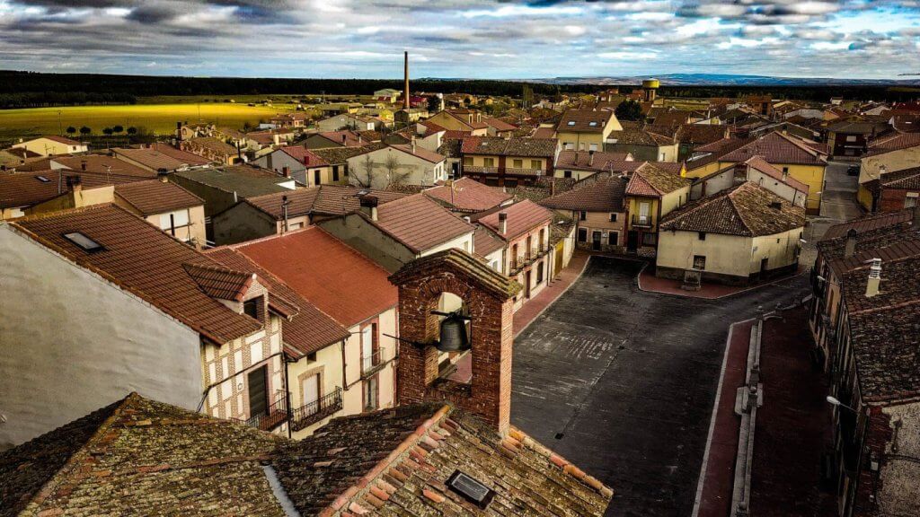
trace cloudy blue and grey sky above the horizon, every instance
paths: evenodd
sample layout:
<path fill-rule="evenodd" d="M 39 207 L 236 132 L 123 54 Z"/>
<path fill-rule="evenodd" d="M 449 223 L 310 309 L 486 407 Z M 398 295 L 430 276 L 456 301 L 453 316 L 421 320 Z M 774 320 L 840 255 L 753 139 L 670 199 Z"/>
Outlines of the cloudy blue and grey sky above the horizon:
<path fill-rule="evenodd" d="M 920 75 L 920 1 L 0 0 L 0 68 L 535 78 Z"/>

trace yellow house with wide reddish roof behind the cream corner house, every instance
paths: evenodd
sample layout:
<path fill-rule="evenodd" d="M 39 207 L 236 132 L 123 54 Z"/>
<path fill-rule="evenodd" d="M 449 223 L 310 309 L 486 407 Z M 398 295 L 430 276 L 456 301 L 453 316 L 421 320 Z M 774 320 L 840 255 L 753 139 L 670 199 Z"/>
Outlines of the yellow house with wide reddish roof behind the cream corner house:
<path fill-rule="evenodd" d="M 734 147 L 734 148 L 732 148 Z M 730 151 L 725 151 L 730 149 Z M 764 136 L 734 146 L 728 144 L 721 151 L 687 161 L 687 178 L 702 178 L 725 167 L 745 162 L 753 156 L 761 156 L 768 164 L 781 170 L 784 175 L 808 185 L 806 211 L 821 212 L 821 194 L 824 190 L 824 168 L 827 155 L 820 144 L 807 142 L 782 132 L 770 132 Z"/>

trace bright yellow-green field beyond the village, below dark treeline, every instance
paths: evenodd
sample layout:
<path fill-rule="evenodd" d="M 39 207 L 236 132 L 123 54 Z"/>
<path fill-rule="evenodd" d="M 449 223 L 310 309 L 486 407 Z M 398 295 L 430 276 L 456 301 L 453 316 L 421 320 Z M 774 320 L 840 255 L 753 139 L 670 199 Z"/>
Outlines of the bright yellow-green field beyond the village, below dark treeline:
<path fill-rule="evenodd" d="M 93 134 L 106 127 L 145 128 L 148 132 L 167 134 L 176 130 L 177 121 L 214 122 L 240 129 L 245 122 L 255 126 L 271 116 L 292 109 L 286 105 L 247 106 L 246 104 L 134 104 L 126 106 L 70 106 L 0 110 L 0 138 L 17 138 L 39 134 L 59 134 L 63 127 L 77 130 L 87 126 Z M 60 113 L 60 121 L 59 121 Z M 79 133 L 77 133 L 79 134 Z"/>

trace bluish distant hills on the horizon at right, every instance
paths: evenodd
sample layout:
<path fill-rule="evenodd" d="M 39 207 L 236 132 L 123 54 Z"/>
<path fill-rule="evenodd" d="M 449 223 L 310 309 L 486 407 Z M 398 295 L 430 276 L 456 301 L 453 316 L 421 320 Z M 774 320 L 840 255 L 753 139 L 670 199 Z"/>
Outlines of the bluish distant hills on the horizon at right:
<path fill-rule="evenodd" d="M 772 75 L 665 74 L 634 76 L 554 77 L 532 79 L 549 85 L 639 85 L 654 77 L 661 86 L 920 86 L 915 79 L 835 79 L 832 77 L 776 77 Z"/>

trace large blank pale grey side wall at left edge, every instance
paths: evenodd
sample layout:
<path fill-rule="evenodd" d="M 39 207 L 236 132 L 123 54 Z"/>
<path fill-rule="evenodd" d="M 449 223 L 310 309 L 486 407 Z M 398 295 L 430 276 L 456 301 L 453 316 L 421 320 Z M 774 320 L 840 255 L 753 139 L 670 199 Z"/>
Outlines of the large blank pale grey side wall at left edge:
<path fill-rule="evenodd" d="M 0 448 L 132 391 L 195 409 L 201 344 L 189 327 L 0 224 Z"/>

